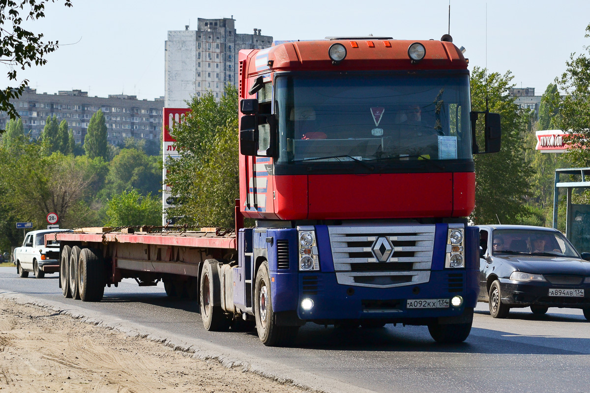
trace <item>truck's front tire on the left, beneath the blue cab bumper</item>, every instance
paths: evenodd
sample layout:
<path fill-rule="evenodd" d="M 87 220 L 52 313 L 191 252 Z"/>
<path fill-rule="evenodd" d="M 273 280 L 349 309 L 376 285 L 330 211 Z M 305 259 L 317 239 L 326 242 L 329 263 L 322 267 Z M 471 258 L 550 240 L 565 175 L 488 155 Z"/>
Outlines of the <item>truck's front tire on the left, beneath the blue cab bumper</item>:
<path fill-rule="evenodd" d="M 258 268 L 254 286 L 254 313 L 260 341 L 266 346 L 286 346 L 297 337 L 299 326 L 277 326 L 274 322 L 268 263 Z"/>

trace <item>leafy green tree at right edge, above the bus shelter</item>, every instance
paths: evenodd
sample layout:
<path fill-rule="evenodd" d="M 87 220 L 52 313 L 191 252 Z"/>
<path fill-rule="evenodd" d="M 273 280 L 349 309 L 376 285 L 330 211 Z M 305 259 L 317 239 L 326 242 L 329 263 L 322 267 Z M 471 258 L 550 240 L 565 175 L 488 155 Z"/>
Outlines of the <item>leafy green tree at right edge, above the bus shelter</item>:
<path fill-rule="evenodd" d="M 586 27 L 586 38 L 590 37 L 590 24 Z M 555 81 L 565 93 L 560 99 L 560 111 L 556 124 L 569 133 L 566 141 L 571 144 L 565 158 L 574 166 L 590 166 L 590 45 L 588 53 L 578 57 L 573 53 L 566 61 L 566 70 Z"/>

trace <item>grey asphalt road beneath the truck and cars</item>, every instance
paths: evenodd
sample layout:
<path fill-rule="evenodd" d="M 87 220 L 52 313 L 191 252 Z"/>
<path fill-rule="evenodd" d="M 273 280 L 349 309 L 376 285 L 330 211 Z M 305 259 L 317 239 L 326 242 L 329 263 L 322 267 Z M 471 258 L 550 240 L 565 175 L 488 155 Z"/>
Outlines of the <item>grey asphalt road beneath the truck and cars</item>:
<path fill-rule="evenodd" d="M 530 310 L 493 319 L 480 303 L 460 345 L 435 344 L 424 326 L 337 329 L 307 324 L 293 348 L 267 348 L 255 332 L 208 332 L 198 305 L 162 287 L 125 280 L 99 303 L 65 299 L 57 274 L 19 278 L 0 267 L 0 296 L 49 305 L 89 321 L 147 335 L 227 365 L 326 392 L 589 392 L 590 322 L 579 310 Z"/>

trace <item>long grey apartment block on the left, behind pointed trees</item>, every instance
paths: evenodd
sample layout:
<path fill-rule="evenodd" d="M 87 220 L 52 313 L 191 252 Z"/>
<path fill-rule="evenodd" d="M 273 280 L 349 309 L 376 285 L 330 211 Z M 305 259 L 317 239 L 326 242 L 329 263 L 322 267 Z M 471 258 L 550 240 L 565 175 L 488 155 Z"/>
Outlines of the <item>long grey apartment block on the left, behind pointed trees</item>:
<path fill-rule="evenodd" d="M 102 110 L 107 126 L 107 141 L 122 143 L 134 137 L 159 141 L 162 134 L 163 97 L 156 100 L 137 100 L 135 95 L 112 94 L 108 98 L 88 97 L 86 91 L 60 91 L 57 94 L 37 94 L 26 88 L 21 97 L 11 103 L 21 115 L 22 125 L 30 137 L 38 138 L 47 117 L 55 115 L 58 121 L 66 120 L 74 133 L 76 143 L 84 143 L 90 118 Z M 0 126 L 6 127 L 8 115 L 0 113 Z"/>

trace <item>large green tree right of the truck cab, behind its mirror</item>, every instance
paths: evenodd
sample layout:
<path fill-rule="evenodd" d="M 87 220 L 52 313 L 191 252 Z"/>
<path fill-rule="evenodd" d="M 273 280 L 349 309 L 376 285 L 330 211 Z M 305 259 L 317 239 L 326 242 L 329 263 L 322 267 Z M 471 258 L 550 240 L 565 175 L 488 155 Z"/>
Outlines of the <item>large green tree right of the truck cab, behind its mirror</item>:
<path fill-rule="evenodd" d="M 512 75 L 475 67 L 471 72 L 471 109 L 486 110 L 486 99 L 490 112 L 501 116 L 502 147 L 500 153 L 481 154 L 475 157 L 476 164 L 476 208 L 471 219 L 476 224 L 519 223 L 528 210 L 524 196 L 529 191 L 532 174 L 525 161 L 523 134 L 527 127 L 525 111 L 514 104 L 509 94 Z M 478 144 L 483 146 L 483 123 L 478 122 Z M 496 217 L 497 216 L 497 217 Z"/>

